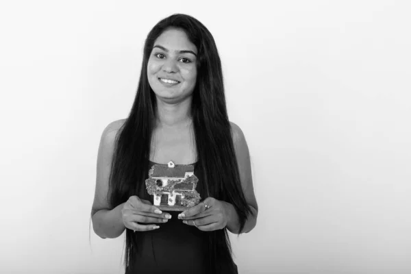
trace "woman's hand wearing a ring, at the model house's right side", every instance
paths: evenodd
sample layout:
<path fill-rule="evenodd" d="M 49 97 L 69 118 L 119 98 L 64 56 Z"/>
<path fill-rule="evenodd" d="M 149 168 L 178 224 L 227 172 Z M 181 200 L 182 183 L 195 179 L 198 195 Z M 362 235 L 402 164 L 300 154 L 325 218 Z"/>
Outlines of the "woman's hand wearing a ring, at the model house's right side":
<path fill-rule="evenodd" d="M 208 197 L 197 206 L 184 210 L 178 215 L 183 223 L 193 225 L 202 231 L 223 229 L 229 218 L 229 203 Z"/>

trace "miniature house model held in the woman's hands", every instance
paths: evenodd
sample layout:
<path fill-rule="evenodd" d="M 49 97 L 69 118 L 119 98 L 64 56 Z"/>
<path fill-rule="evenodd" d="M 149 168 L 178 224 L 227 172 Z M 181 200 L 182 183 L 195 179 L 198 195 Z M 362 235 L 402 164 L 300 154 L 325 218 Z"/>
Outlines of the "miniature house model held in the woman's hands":
<path fill-rule="evenodd" d="M 153 195 L 154 206 L 162 210 L 184 210 L 199 203 L 200 196 L 195 190 L 197 182 L 194 166 L 169 162 L 152 166 L 146 188 Z"/>

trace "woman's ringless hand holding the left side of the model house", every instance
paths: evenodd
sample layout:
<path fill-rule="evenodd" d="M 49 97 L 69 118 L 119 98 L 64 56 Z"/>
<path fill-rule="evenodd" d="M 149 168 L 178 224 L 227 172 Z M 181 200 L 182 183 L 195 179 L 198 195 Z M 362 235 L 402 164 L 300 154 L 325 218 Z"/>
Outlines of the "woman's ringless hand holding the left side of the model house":
<path fill-rule="evenodd" d="M 121 216 L 125 227 L 134 230 L 134 232 L 158 229 L 159 226 L 155 225 L 156 223 L 166 223 L 171 219 L 171 214 L 163 213 L 149 201 L 137 196 L 129 197 L 124 203 Z"/>

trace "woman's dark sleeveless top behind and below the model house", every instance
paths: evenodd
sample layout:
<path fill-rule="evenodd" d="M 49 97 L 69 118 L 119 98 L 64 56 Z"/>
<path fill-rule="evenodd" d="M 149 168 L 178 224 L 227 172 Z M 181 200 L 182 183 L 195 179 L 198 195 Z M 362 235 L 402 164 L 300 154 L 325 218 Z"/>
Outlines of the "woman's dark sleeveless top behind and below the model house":
<path fill-rule="evenodd" d="M 149 169 L 156 164 L 149 162 Z M 178 164 L 176 164 L 178 165 Z M 196 190 L 201 196 L 201 201 L 206 199 L 203 185 L 203 175 L 197 163 L 194 165 L 194 174 L 199 179 Z M 147 178 L 149 171 L 147 170 Z M 146 188 L 140 188 L 138 197 L 151 201 Z M 135 232 L 139 237 L 140 247 L 134 258 L 134 267 L 128 268 L 125 274 L 153 274 L 153 273 L 179 273 L 179 274 L 208 274 L 208 248 L 207 232 L 202 232 L 195 226 L 186 225 L 177 218 L 181 212 L 168 212 L 171 219 L 166 223 L 159 223 L 160 228 L 147 232 Z"/>

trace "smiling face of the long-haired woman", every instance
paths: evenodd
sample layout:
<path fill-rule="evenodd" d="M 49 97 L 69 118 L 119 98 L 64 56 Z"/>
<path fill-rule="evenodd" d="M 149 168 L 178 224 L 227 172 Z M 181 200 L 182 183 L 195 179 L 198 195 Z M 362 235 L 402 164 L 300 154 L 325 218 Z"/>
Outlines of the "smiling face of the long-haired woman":
<path fill-rule="evenodd" d="M 147 65 L 155 95 L 175 103 L 192 95 L 197 79 L 197 48 L 185 32 L 167 29 L 155 40 Z"/>

